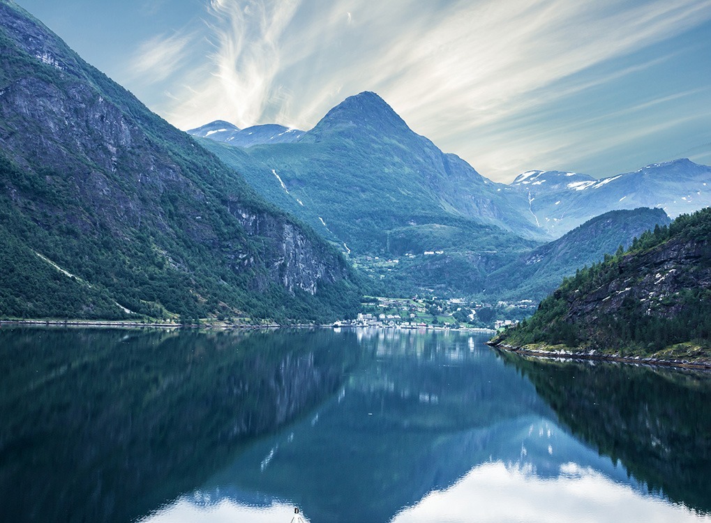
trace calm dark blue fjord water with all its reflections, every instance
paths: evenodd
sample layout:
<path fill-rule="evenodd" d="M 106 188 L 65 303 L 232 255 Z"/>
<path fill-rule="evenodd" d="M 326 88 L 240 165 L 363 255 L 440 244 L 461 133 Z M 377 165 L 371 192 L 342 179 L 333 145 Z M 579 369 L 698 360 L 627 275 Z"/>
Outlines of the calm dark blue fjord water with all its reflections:
<path fill-rule="evenodd" d="M 485 340 L 0 328 L 0 514 L 711 520 L 709 375 Z"/>

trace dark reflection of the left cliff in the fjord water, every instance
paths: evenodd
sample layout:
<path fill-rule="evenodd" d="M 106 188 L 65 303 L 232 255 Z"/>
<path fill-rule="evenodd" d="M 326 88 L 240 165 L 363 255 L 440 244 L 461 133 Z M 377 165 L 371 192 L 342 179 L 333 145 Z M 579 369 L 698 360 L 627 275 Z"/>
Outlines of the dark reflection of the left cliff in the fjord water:
<path fill-rule="evenodd" d="M 355 335 L 0 329 L 4 521 L 125 522 L 342 387 Z"/>

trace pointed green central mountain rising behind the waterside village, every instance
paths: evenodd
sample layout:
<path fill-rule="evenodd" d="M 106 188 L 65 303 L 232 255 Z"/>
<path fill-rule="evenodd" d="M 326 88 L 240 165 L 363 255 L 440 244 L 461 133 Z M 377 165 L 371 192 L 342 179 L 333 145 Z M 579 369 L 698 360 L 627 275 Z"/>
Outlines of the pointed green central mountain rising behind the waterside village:
<path fill-rule="evenodd" d="M 199 143 L 348 254 L 385 293 L 479 293 L 540 231 L 468 163 L 415 134 L 372 92 L 291 144 Z M 424 252 L 440 252 L 425 256 Z M 373 259 L 398 259 L 383 268 Z"/>

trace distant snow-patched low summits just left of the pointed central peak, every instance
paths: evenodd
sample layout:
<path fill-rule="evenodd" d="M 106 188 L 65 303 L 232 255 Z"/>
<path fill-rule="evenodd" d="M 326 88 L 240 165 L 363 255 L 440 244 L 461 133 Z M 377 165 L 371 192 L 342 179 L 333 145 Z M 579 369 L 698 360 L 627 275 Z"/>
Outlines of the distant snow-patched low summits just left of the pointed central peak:
<path fill-rule="evenodd" d="M 260 144 L 290 144 L 306 134 L 306 131 L 289 129 L 277 124 L 255 125 L 240 129 L 224 120 L 216 120 L 197 129 L 190 129 L 187 132 L 193 136 L 222 141 L 235 147 L 251 147 Z"/>

